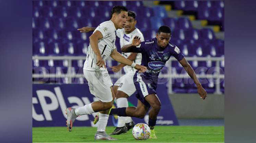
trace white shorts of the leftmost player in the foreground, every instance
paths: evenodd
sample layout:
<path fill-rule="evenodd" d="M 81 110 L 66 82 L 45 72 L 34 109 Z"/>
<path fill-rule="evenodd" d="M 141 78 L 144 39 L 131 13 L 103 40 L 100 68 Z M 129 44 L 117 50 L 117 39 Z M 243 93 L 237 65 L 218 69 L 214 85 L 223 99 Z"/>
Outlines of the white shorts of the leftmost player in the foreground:
<path fill-rule="evenodd" d="M 113 85 L 107 70 L 90 71 L 84 69 L 84 76 L 88 81 L 91 94 L 101 102 L 113 100 L 110 87 Z"/>

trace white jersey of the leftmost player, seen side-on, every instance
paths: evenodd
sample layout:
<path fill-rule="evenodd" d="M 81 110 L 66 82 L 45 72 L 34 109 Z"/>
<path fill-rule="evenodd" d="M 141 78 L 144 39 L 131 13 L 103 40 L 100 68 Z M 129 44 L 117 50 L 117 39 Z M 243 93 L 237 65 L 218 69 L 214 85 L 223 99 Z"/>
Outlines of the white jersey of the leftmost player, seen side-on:
<path fill-rule="evenodd" d="M 111 52 L 113 51 L 113 49 L 115 49 L 115 31 L 117 29 L 115 28 L 114 23 L 109 20 L 100 23 L 100 25 L 94 30 L 94 32 L 96 30 L 100 31 L 100 33 L 103 35 L 103 38 L 100 39 L 98 42 L 98 47 L 101 53 L 101 57 L 106 63 L 106 59 L 110 57 Z M 84 62 L 83 69 L 90 71 L 106 70 L 104 67 L 99 68 L 96 65 L 97 58 L 91 45 L 88 46 L 88 51 L 86 55 L 87 57 Z"/>

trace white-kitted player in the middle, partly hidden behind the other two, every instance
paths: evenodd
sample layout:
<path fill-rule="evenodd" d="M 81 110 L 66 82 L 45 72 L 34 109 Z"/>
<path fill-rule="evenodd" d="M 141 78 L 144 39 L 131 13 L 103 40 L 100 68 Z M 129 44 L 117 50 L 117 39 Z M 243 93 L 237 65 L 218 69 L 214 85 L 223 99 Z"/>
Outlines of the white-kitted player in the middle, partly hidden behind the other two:
<path fill-rule="evenodd" d="M 128 11 L 128 17 L 126 18 L 126 23 L 123 29 L 117 30 L 117 36 L 120 38 L 120 47 L 124 45 L 131 44 L 132 40 L 135 36 L 141 37 L 141 41 L 144 41 L 144 36 L 135 27 L 137 20 L 136 14 L 132 11 Z M 95 30 L 95 28 L 91 27 L 83 27 L 81 32 L 90 32 Z M 138 46 L 139 47 L 139 46 Z M 141 53 L 123 53 L 122 55 L 134 61 L 136 64 L 141 64 L 142 54 Z M 115 97 L 117 98 L 116 103 L 117 107 L 128 107 L 128 100 L 127 98 L 130 97 L 135 91 L 135 86 L 133 83 L 133 75 L 135 74 L 136 70 L 130 66 L 126 66 L 124 64 L 119 64 L 117 66 L 112 66 L 113 72 L 119 72 L 122 67 L 124 68 L 125 75 L 120 77 L 113 86 L 113 90 L 115 93 Z M 118 116 L 118 125 L 117 128 L 113 131 L 112 134 L 121 134 L 125 133 L 131 128 L 133 128 L 134 122 L 132 121 L 131 117 L 120 117 Z"/>

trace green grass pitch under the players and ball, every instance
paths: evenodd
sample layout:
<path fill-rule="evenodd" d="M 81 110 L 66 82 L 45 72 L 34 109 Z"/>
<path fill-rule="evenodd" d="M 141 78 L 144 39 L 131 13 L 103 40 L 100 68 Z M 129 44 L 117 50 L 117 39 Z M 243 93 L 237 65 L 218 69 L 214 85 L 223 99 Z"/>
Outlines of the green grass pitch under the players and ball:
<path fill-rule="evenodd" d="M 108 126 L 110 134 L 115 128 Z M 33 127 L 33 142 L 179 142 L 202 143 L 224 142 L 224 126 L 156 126 L 157 139 L 135 140 L 132 129 L 127 133 L 113 135 L 117 141 L 95 141 L 95 127 L 75 127 L 69 132 L 66 127 Z"/>

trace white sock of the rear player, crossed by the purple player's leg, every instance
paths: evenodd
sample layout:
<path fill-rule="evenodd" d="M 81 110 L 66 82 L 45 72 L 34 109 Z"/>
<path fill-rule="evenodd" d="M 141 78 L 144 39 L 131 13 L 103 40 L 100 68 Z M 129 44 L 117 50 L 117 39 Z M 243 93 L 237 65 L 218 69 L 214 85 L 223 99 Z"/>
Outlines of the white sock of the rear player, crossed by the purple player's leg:
<path fill-rule="evenodd" d="M 117 108 L 122 108 L 122 107 L 128 107 L 127 98 L 118 98 L 117 99 Z M 118 116 L 117 127 L 123 127 L 123 126 L 125 126 L 125 123 L 130 123 L 130 122 L 132 122 L 131 117 L 120 117 L 120 116 Z"/>

